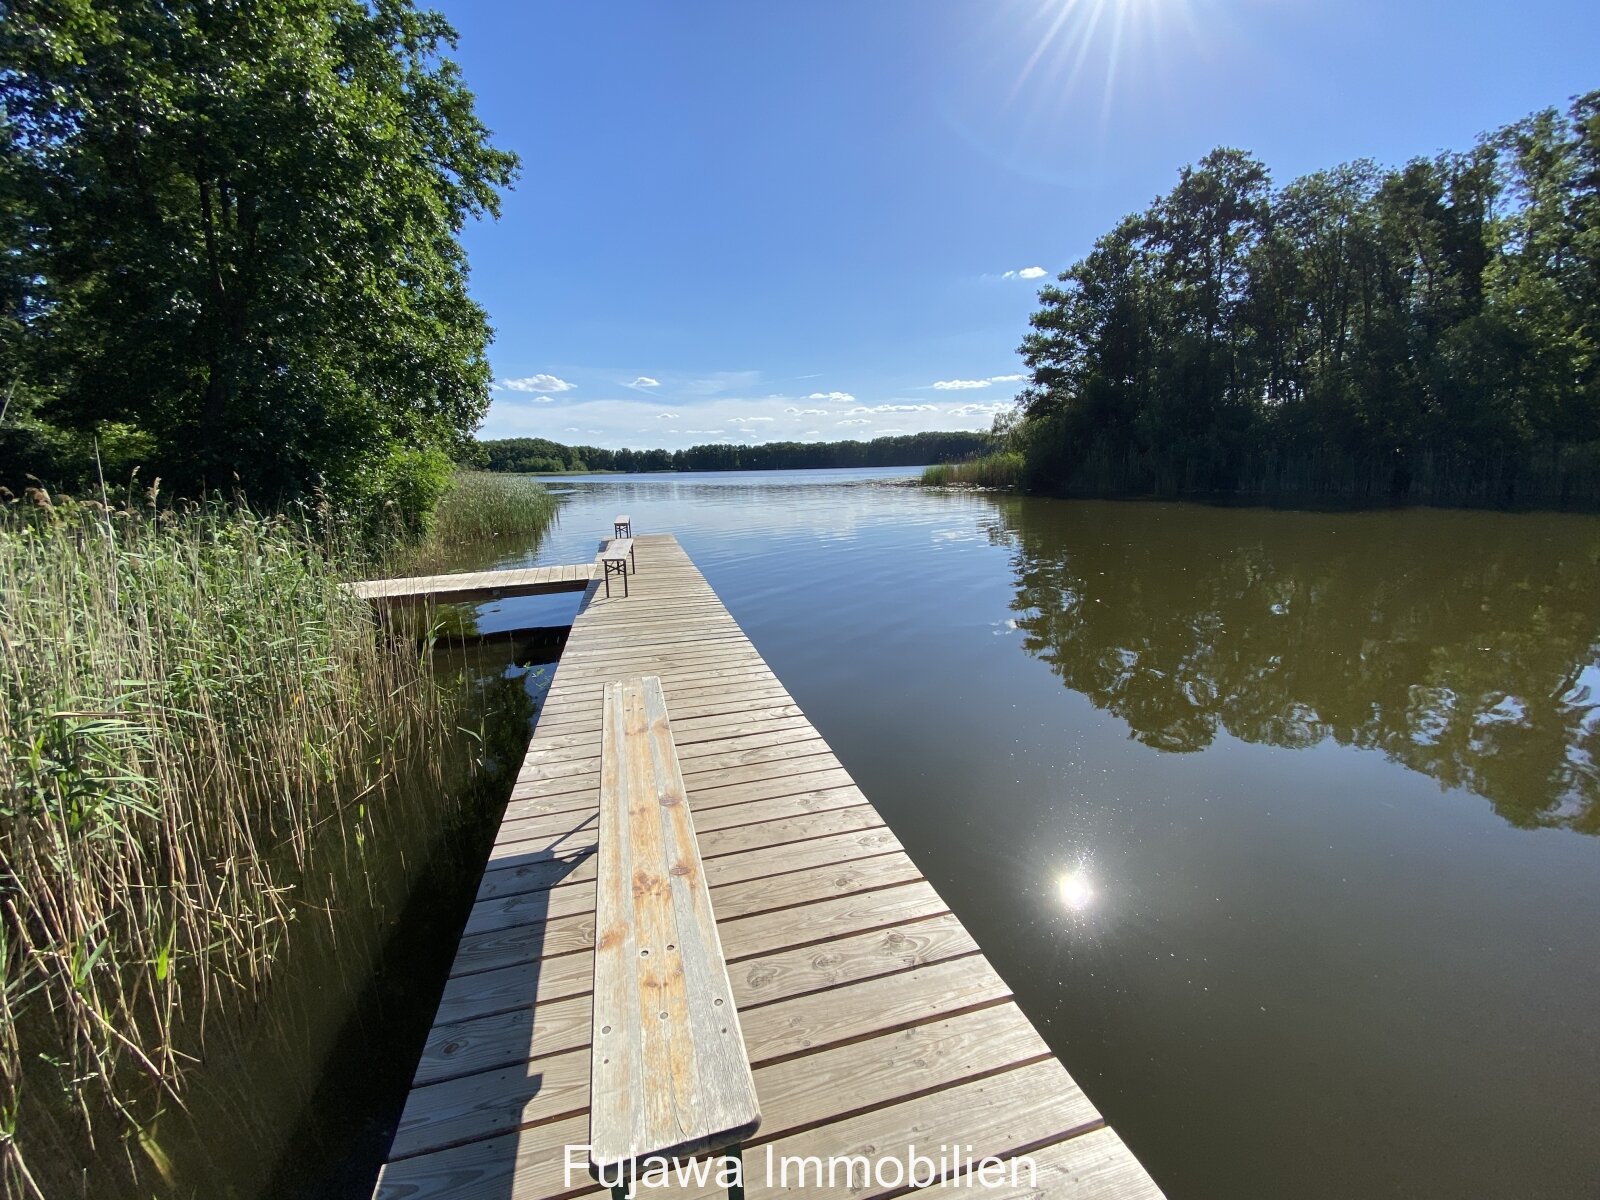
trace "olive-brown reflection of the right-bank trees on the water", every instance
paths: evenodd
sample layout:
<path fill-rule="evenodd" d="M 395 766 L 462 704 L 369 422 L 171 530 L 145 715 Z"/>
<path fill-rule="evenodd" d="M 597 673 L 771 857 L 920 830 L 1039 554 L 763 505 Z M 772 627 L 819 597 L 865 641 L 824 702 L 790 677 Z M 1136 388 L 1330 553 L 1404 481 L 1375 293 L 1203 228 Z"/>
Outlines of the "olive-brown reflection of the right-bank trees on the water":
<path fill-rule="evenodd" d="M 994 502 L 1027 651 L 1146 746 L 1333 739 L 1600 834 L 1600 522 Z"/>

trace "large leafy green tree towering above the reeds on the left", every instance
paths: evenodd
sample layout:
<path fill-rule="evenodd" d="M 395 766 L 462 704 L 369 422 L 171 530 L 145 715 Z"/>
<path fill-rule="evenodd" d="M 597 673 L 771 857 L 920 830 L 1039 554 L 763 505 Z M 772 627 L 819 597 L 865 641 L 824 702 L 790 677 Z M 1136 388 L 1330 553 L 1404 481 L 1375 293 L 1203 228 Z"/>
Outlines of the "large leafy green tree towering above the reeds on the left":
<path fill-rule="evenodd" d="M 488 403 L 456 237 L 515 170 L 453 42 L 411 0 L 8 3 L 0 470 L 120 437 L 184 494 L 418 530 Z"/>

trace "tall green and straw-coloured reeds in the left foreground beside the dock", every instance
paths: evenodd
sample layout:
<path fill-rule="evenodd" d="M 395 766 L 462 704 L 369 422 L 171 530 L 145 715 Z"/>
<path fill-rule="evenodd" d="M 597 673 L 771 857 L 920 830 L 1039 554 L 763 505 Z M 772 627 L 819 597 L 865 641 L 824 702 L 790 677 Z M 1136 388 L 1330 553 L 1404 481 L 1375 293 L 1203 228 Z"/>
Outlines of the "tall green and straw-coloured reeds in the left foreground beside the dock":
<path fill-rule="evenodd" d="M 290 517 L 0 504 L 5 1195 L 170 1182 L 158 1118 L 294 922 L 381 904 L 368 850 L 438 824 L 458 693 L 344 573 Z"/>

